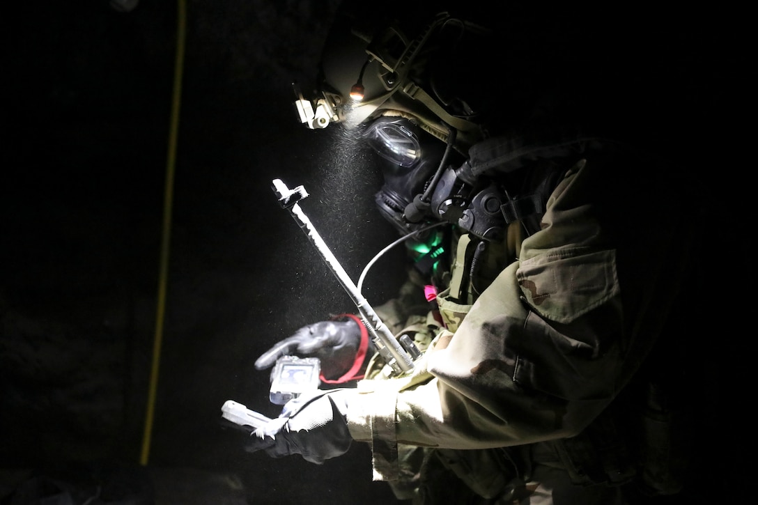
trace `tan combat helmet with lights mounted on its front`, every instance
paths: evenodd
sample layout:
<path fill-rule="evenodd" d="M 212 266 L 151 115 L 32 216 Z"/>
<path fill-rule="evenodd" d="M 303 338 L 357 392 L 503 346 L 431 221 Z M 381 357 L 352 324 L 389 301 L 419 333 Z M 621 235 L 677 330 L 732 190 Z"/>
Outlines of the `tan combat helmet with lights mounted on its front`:
<path fill-rule="evenodd" d="M 465 152 L 487 135 L 493 108 L 483 83 L 491 78 L 492 32 L 475 16 L 443 3 L 387 2 L 387 14 L 367 17 L 365 5 L 341 5 L 321 56 L 318 89 L 305 99 L 296 88 L 300 121 L 312 129 L 407 118 Z M 481 75 L 484 74 L 484 75 Z"/>

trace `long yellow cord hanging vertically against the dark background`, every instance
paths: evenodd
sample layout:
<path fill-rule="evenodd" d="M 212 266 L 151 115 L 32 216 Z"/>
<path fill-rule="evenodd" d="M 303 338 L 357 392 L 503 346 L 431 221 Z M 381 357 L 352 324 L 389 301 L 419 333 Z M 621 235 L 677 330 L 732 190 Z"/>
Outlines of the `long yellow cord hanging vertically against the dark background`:
<path fill-rule="evenodd" d="M 161 342 L 166 306 L 166 279 L 168 278 L 168 250 L 171 244 L 171 205 L 174 198 L 174 165 L 176 165 L 177 136 L 179 130 L 179 109 L 182 95 L 182 74 L 184 66 L 184 39 L 186 29 L 186 0 L 178 0 L 177 5 L 177 60 L 174 66 L 174 92 L 171 101 L 171 129 L 168 136 L 168 162 L 166 163 L 166 187 L 163 203 L 163 234 L 161 236 L 161 268 L 158 275 L 158 309 L 155 318 L 155 340 L 152 347 L 152 369 L 145 413 L 142 456 L 139 462 L 147 465 L 152 438 L 152 419 L 155 413 L 155 396 L 158 391 L 158 368 L 161 363 Z"/>

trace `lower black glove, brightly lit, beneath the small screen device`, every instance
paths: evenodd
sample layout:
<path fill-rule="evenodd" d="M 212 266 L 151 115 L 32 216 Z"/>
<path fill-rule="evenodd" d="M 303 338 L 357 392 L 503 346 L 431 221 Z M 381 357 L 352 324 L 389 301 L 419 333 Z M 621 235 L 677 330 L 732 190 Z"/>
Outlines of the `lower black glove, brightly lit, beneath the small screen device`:
<path fill-rule="evenodd" d="M 355 390 L 302 394 L 284 405 L 280 417 L 250 434 L 245 449 L 274 458 L 300 454 L 320 465 L 347 452 L 352 442 L 347 429 L 347 400 Z"/>

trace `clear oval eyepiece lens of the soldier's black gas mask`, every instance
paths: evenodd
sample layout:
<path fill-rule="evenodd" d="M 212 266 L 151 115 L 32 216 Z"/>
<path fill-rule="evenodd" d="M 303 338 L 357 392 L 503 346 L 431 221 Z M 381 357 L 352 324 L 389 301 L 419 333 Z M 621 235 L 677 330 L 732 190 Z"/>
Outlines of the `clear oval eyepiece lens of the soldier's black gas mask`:
<path fill-rule="evenodd" d="M 380 118 L 368 127 L 364 136 L 382 158 L 401 167 L 412 167 L 421 158 L 414 128 L 407 119 Z"/>

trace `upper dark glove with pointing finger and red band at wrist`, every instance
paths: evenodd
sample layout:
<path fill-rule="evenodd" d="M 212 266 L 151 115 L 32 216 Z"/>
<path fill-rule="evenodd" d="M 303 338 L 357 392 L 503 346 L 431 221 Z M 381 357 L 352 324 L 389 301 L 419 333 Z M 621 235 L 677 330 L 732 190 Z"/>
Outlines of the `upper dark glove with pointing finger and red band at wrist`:
<path fill-rule="evenodd" d="M 342 378 L 347 381 L 353 377 L 342 376 L 347 372 L 355 375 L 365 359 L 367 347 L 368 334 L 357 318 L 345 322 L 318 322 L 303 326 L 291 337 L 274 344 L 255 360 L 255 369 L 268 369 L 281 356 L 315 357 L 321 360 L 322 380 Z"/>

